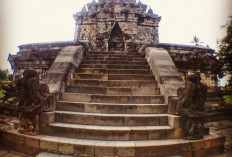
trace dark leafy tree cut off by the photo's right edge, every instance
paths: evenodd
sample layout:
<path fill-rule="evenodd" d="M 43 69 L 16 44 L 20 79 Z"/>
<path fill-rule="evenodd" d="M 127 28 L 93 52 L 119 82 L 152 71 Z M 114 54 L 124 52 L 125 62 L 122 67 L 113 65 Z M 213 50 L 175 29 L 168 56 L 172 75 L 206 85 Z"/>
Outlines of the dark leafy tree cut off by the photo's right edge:
<path fill-rule="evenodd" d="M 219 77 L 229 76 L 228 83 L 232 86 L 232 16 L 230 22 L 223 26 L 226 28 L 226 36 L 219 42 L 219 53 L 217 56 L 224 63 Z"/>

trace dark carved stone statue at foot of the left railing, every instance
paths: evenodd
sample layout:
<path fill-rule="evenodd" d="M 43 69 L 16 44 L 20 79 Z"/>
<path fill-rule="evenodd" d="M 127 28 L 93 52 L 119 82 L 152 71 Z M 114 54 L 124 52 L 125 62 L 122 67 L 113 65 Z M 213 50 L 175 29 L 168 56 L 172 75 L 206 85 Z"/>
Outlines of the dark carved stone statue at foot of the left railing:
<path fill-rule="evenodd" d="M 39 83 L 35 70 L 25 70 L 23 78 L 16 83 L 19 96 L 20 133 L 36 135 L 39 133 L 39 115 L 49 111 L 53 106 L 53 95 L 49 94 L 48 86 Z"/>

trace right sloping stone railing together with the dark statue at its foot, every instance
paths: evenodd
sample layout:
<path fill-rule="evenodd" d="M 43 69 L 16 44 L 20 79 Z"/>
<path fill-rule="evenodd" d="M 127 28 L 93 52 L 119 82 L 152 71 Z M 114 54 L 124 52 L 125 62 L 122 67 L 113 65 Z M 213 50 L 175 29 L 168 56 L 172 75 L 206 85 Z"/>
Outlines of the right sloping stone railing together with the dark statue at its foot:
<path fill-rule="evenodd" d="M 181 117 L 183 138 L 203 138 L 207 87 L 200 82 L 200 74 L 189 75 L 184 83 L 165 49 L 145 47 L 144 52 L 168 104 L 168 113 Z"/>

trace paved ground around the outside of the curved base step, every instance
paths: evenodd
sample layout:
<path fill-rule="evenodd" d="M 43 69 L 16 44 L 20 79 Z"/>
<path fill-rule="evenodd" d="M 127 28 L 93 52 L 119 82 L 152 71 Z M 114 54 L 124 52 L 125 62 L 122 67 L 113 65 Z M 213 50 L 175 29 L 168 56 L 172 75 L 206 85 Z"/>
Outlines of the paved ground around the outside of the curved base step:
<path fill-rule="evenodd" d="M 12 121 L 16 119 L 12 118 L 6 118 L 0 116 L 0 123 L 7 124 L 9 121 Z M 224 135 L 226 136 L 226 142 L 225 142 L 225 153 L 223 155 L 217 155 L 214 157 L 232 157 L 232 119 L 231 120 L 224 120 L 224 121 L 218 121 L 218 122 L 210 122 L 205 124 L 206 127 L 210 127 L 210 131 Z M 50 156 L 50 155 L 45 155 Z M 51 155 L 54 157 L 54 155 Z M 29 157 L 24 154 L 20 154 L 14 151 L 10 151 L 4 148 L 0 148 L 0 157 Z"/>

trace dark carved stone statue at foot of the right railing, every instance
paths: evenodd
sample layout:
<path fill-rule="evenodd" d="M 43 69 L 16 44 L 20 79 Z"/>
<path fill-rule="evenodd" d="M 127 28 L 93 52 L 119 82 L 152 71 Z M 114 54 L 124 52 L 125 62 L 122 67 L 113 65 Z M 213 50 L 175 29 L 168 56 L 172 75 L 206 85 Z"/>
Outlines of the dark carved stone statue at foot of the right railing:
<path fill-rule="evenodd" d="M 188 140 L 202 139 L 204 135 L 204 102 L 207 87 L 201 82 L 200 73 L 186 78 L 185 88 L 178 89 L 176 111 L 181 115 L 183 137 Z"/>

